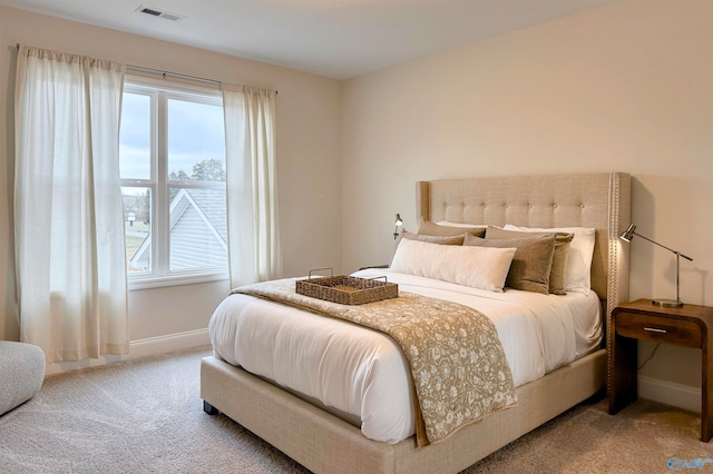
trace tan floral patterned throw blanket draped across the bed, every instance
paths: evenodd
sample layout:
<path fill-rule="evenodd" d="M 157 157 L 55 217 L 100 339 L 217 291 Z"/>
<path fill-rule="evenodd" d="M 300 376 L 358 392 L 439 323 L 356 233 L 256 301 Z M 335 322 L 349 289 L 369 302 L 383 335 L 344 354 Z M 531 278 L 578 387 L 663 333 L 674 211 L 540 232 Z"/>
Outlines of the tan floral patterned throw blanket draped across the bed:
<path fill-rule="evenodd" d="M 300 295 L 296 278 L 242 286 L 241 293 L 345 319 L 390 335 L 413 378 L 417 443 L 438 443 L 462 426 L 517 403 L 495 325 L 476 309 L 426 296 L 340 305 Z"/>

